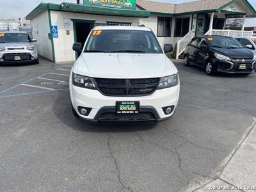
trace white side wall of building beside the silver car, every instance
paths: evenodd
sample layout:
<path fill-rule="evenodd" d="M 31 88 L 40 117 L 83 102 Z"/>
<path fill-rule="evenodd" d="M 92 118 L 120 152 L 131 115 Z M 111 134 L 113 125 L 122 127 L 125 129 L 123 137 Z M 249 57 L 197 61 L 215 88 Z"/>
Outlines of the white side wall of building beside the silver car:
<path fill-rule="evenodd" d="M 51 40 L 48 38 L 50 33 L 48 11 L 40 13 L 31 20 L 33 38 L 37 40 L 35 42 L 38 54 L 52 60 L 52 45 Z"/>

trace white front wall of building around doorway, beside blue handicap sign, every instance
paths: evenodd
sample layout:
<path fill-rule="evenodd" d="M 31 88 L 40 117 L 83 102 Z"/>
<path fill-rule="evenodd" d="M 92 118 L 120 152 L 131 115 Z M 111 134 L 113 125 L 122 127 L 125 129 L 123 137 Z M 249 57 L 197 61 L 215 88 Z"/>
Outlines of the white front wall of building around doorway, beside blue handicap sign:
<path fill-rule="evenodd" d="M 74 28 L 71 19 L 132 22 L 132 25 L 139 24 L 138 17 L 119 17 L 110 15 L 92 15 L 85 13 L 51 11 L 51 22 L 52 25 L 58 26 L 59 35 L 59 38 L 53 39 L 56 63 L 61 61 L 76 60 L 75 52 L 72 50 L 72 45 L 74 43 Z M 63 26 L 64 22 L 70 23 L 70 35 L 66 34 Z"/>

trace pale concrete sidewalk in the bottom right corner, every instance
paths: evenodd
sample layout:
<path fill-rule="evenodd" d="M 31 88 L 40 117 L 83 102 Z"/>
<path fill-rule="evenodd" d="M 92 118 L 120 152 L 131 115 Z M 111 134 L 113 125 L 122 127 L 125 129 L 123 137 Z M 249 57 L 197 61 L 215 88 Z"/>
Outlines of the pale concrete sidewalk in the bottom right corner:
<path fill-rule="evenodd" d="M 216 180 L 191 191 L 256 191 L 256 119 Z"/>

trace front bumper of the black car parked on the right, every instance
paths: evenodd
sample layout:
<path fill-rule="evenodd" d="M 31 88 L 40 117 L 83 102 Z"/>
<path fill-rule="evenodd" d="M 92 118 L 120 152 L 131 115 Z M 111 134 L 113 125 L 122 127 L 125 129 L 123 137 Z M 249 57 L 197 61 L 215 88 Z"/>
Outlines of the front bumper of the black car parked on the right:
<path fill-rule="evenodd" d="M 223 73 L 252 74 L 256 71 L 255 61 L 253 63 L 234 63 L 230 61 L 215 60 L 213 63 L 217 66 L 217 71 Z M 244 65 L 245 68 L 239 68 L 240 65 Z"/>

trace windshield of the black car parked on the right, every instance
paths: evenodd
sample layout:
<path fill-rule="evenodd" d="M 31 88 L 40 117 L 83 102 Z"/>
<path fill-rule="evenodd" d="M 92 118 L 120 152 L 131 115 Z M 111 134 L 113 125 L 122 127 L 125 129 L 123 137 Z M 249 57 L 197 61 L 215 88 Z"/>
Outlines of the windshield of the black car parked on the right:
<path fill-rule="evenodd" d="M 227 38 L 226 36 L 212 36 L 206 38 L 209 44 L 213 47 L 236 49 L 243 48 L 243 46 L 234 38 Z"/>

